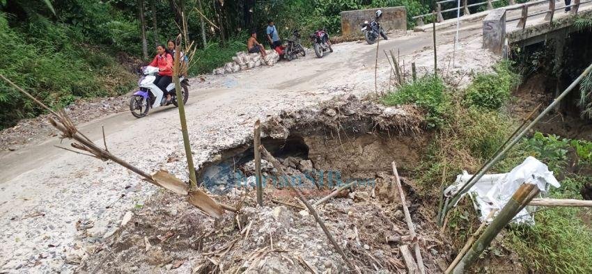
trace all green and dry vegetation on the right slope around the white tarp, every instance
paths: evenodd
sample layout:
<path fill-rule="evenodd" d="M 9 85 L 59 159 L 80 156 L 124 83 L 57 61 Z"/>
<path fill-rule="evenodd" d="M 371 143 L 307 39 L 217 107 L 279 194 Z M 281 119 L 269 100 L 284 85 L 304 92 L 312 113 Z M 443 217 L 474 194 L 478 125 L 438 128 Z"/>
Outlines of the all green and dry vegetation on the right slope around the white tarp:
<path fill-rule="evenodd" d="M 520 77 L 509 63 L 499 63 L 494 70 L 494 74 L 476 76 L 465 90 L 450 91 L 442 81 L 428 77 L 381 98 L 389 105 L 417 104 L 431 121 L 437 121 L 426 156 L 412 172 L 423 198 L 437 199 L 442 185 L 453 182 L 462 170 L 476 172 L 517 127 L 504 106 Z M 546 163 L 561 179 L 561 188 L 550 190 L 552 198 L 581 199 L 579 189 L 592 182 L 590 176 L 568 172 L 573 157 L 577 166 L 590 164 L 591 142 L 539 132 L 523 138 L 491 172 L 508 172 L 527 156 Z M 504 239 L 494 242 L 486 256 L 503 256 L 507 248 L 535 273 L 591 273 L 592 230 L 583 220 L 591 214 L 589 209 L 543 209 L 535 214 L 536 225 L 506 229 Z M 479 223 L 472 202 L 461 200 L 447 219 L 449 240 L 462 247 Z"/>

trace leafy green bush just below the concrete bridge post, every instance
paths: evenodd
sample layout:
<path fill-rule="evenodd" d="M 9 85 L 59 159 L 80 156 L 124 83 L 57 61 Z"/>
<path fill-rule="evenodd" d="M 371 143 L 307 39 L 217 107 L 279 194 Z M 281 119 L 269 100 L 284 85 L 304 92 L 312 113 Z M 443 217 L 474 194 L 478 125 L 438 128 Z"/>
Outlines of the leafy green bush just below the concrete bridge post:
<path fill-rule="evenodd" d="M 494 74 L 478 74 L 465 92 L 469 106 L 498 109 L 510 98 L 511 88 L 519 83 L 519 76 L 512 72 L 511 63 L 494 65 Z"/>

